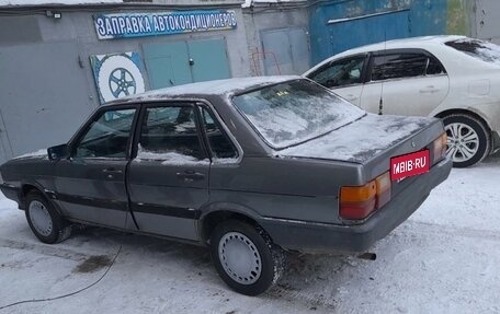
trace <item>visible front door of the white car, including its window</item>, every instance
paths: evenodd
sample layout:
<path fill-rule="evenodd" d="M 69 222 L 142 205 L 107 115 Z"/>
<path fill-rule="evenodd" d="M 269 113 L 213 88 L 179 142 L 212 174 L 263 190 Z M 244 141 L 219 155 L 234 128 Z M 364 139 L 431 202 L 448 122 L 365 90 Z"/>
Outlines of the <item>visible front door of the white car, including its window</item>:
<path fill-rule="evenodd" d="M 366 55 L 356 55 L 333 60 L 307 77 L 360 106 L 365 65 Z"/>

